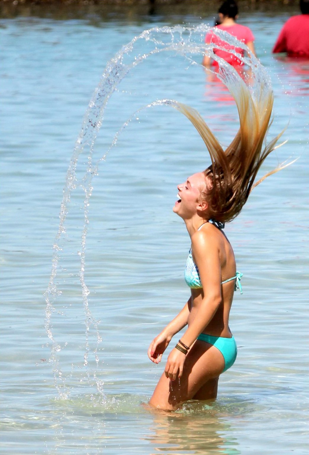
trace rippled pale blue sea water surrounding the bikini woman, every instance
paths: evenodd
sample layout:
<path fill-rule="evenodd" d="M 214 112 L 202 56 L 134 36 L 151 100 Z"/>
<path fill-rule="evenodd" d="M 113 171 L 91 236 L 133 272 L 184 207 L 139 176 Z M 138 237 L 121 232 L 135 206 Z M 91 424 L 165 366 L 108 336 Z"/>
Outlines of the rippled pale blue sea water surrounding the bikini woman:
<path fill-rule="evenodd" d="M 106 62 L 150 24 L 0 21 L 0 453 L 307 453 L 309 63 L 271 56 L 286 17 L 257 13 L 242 23 L 251 26 L 273 82 L 270 133 L 289 123 L 287 144 L 262 171 L 299 159 L 256 188 L 226 227 L 244 273 L 244 295 L 235 294 L 230 321 L 238 359 L 222 375 L 216 403 L 189 403 L 172 415 L 141 406 L 163 369 L 146 352 L 188 298 L 189 237 L 171 208 L 177 184 L 207 165 L 207 152 L 187 119 L 156 106 L 141 111 L 100 162 L 85 255 L 97 329 L 85 316 L 79 278 L 84 195 L 72 193 L 57 275 L 62 294 L 51 317 L 60 351 L 58 363 L 50 361 L 43 294 L 74 144 Z M 131 71 L 113 95 L 95 160 L 134 111 L 158 98 L 198 109 L 223 144 L 237 129 L 228 93 L 200 66 L 161 53 Z"/>

